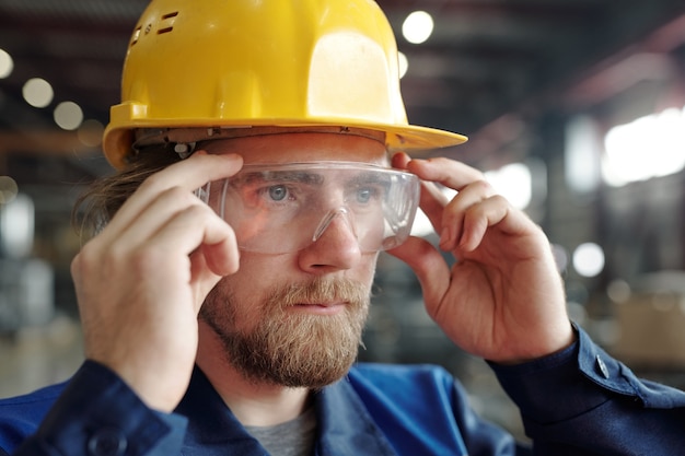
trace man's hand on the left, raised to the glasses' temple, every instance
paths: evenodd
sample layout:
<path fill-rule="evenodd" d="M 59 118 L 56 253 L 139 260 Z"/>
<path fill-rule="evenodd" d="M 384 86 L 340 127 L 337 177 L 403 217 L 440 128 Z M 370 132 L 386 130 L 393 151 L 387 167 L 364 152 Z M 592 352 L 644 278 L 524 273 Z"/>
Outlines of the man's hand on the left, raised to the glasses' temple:
<path fill-rule="evenodd" d="M 241 166 L 235 154 L 196 152 L 152 175 L 71 264 L 85 355 L 153 409 L 185 394 L 199 308 L 239 268 L 233 230 L 193 191 Z"/>

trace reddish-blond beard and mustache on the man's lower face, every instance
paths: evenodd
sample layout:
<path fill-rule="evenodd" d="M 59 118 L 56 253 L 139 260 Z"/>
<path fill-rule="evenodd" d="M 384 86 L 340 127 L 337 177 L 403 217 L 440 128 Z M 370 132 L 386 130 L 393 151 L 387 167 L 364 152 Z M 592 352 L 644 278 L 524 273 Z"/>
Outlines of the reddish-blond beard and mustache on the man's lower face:
<path fill-rule="evenodd" d="M 355 362 L 369 313 L 370 290 L 347 279 L 314 279 L 274 287 L 260 299 L 237 302 L 222 281 L 208 295 L 202 318 L 222 341 L 225 358 L 255 383 L 322 388 Z M 335 313 L 309 305 L 344 303 Z"/>

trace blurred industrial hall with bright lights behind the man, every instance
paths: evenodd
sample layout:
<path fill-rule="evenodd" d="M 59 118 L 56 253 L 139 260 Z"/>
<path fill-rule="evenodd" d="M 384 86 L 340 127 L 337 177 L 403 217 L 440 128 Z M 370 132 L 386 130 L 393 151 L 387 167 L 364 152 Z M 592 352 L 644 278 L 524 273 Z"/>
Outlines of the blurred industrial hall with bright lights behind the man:
<path fill-rule="evenodd" d="M 100 138 L 146 0 L 0 0 L 0 397 L 82 360 L 70 211 L 111 173 Z M 569 312 L 639 374 L 685 387 L 685 2 L 379 0 L 413 124 L 471 140 L 441 155 L 487 172 L 548 234 Z M 186 69 L 187 70 L 187 69 Z M 425 221 L 416 233 L 431 237 Z M 514 433 L 483 361 L 380 259 L 363 360 L 432 362 Z"/>

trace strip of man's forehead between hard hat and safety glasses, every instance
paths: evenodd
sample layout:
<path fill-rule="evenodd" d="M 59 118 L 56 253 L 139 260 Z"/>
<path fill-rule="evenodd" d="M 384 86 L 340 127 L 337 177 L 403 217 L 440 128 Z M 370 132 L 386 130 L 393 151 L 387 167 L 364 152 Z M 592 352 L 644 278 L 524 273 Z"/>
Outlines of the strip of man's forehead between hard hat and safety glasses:
<path fill-rule="evenodd" d="M 374 139 L 335 133 L 279 133 L 209 141 L 209 153 L 237 153 L 245 164 L 346 161 L 387 165 L 385 145 Z"/>

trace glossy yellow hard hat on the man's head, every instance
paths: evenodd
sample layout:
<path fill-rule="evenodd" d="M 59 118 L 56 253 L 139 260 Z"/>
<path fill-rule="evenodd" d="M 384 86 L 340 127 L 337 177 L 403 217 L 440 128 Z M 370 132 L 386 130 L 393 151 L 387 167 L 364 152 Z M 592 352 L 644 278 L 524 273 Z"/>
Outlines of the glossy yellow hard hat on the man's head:
<path fill-rule="evenodd" d="M 341 127 L 391 150 L 466 138 L 409 125 L 392 28 L 371 0 L 152 0 L 129 43 L 105 155 L 124 167 L 136 131 Z"/>

